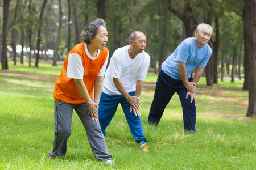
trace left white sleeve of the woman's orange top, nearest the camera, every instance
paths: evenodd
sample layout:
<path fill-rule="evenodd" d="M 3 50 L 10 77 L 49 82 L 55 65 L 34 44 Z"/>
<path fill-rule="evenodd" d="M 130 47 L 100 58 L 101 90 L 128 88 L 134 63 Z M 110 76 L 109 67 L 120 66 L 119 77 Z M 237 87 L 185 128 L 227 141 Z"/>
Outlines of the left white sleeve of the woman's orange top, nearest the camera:
<path fill-rule="evenodd" d="M 82 66 L 82 59 L 79 54 L 69 54 L 67 77 L 80 80 L 84 78 L 84 67 Z"/>

